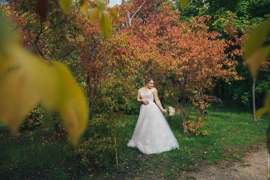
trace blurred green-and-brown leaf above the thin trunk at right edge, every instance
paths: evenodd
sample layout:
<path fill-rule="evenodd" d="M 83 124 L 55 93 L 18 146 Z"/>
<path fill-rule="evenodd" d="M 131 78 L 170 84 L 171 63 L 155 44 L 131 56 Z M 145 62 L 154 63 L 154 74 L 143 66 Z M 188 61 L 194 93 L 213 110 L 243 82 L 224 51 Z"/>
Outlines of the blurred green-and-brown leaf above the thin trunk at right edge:
<path fill-rule="evenodd" d="M 244 46 L 245 59 L 250 64 L 250 72 L 254 77 L 256 77 L 260 64 L 270 52 L 269 45 L 263 46 L 264 41 L 268 38 L 269 31 L 270 20 L 255 28 L 250 33 Z"/>

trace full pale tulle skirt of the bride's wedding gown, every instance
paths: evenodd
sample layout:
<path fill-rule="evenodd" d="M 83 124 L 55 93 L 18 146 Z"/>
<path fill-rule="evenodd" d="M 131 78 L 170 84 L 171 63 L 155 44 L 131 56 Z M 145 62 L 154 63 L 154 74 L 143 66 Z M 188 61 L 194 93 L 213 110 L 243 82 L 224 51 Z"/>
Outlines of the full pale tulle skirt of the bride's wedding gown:
<path fill-rule="evenodd" d="M 137 147 L 144 154 L 158 154 L 179 147 L 165 116 L 155 102 L 142 104 L 128 147 Z"/>

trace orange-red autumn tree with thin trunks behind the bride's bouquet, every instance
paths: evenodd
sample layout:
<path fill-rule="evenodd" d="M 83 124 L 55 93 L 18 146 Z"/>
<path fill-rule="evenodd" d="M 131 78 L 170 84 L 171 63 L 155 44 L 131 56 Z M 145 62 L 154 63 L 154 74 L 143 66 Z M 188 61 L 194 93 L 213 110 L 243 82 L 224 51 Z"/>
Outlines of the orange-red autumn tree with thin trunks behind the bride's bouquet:
<path fill-rule="evenodd" d="M 140 16 L 136 17 L 141 19 Z M 195 134 L 199 134 L 199 110 L 205 108 L 205 102 L 211 99 L 209 94 L 214 87 L 214 79 L 241 79 L 235 71 L 237 61 L 232 60 L 225 49 L 226 40 L 217 39 L 217 32 L 208 32 L 205 21 L 209 16 L 195 17 L 189 22 L 180 22 L 180 12 L 173 5 L 163 3 L 157 11 L 152 11 L 144 23 L 133 24 L 129 32 L 139 37 L 149 50 L 144 54 L 144 72 L 150 73 L 164 87 L 178 107 L 183 122 L 184 134 L 187 133 L 185 103 L 192 100 L 196 106 Z M 135 20 L 134 20 L 135 21 Z M 162 83 L 161 83 L 162 84 Z M 191 123 L 191 122 L 190 122 Z M 193 122 L 192 122 L 193 123 Z"/>

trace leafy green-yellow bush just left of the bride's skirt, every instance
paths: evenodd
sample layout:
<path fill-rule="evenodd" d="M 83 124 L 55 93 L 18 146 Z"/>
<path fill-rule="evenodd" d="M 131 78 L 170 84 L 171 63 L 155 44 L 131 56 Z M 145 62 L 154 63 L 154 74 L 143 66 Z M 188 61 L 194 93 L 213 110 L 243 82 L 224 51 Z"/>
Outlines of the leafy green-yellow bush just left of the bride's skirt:
<path fill-rule="evenodd" d="M 67 144 L 64 148 L 66 152 L 75 154 L 85 166 L 95 164 L 98 167 L 107 167 L 112 160 L 116 161 L 115 149 L 121 144 L 121 138 L 116 132 L 116 122 L 122 119 L 118 106 L 108 97 L 96 99 L 95 110 L 92 111 L 95 114 L 88 120 L 79 145 L 75 147 Z"/>

